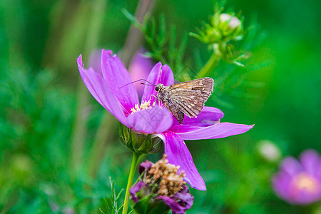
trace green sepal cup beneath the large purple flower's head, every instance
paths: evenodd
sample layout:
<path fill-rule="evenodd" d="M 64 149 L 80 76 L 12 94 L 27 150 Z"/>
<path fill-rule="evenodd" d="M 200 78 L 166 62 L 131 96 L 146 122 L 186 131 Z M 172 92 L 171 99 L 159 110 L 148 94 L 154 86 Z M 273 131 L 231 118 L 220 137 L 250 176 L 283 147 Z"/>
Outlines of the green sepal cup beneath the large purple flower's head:
<path fill-rule="evenodd" d="M 147 133 L 138 133 L 120 123 L 119 136 L 126 148 L 135 153 L 153 154 L 161 151 L 160 138 Z"/>

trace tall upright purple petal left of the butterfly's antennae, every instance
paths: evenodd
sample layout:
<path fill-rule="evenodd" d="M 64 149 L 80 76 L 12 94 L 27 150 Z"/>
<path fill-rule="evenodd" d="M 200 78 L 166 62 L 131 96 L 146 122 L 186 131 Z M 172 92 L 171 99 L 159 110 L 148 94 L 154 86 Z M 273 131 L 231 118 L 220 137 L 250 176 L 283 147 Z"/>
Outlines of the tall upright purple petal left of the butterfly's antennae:
<path fill-rule="evenodd" d="M 139 103 L 138 93 L 129 76 L 128 71 L 116 55 L 111 56 L 112 51 L 101 51 L 101 69 L 111 91 L 121 103 L 123 108 L 130 113 L 131 108 Z M 130 83 L 130 84 L 128 84 Z M 128 84 L 127 86 L 125 86 Z"/>

